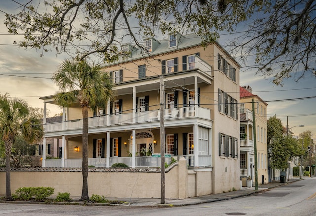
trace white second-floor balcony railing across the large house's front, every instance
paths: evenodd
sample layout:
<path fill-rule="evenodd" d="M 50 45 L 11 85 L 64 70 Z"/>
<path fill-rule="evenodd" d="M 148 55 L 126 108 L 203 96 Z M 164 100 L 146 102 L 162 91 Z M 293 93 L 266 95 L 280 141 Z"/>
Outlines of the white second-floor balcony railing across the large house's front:
<path fill-rule="evenodd" d="M 133 118 L 134 114 L 135 118 Z M 195 110 L 195 107 L 171 108 L 164 110 L 164 120 L 166 121 L 175 119 L 188 119 L 193 117 L 200 117 L 210 120 L 211 110 L 202 107 L 198 107 L 197 110 Z M 92 117 L 89 118 L 89 128 L 126 124 L 130 125 L 133 123 L 145 123 L 155 121 L 160 121 L 160 110 Z M 64 130 L 76 130 L 81 128 L 82 119 L 47 123 L 44 125 L 45 133 Z"/>

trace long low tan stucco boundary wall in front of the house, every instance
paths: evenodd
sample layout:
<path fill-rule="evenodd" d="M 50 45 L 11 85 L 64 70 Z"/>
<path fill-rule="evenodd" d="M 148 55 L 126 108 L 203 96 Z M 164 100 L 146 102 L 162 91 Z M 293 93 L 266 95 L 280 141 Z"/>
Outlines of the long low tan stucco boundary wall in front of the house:
<path fill-rule="evenodd" d="M 188 174 L 186 161 L 173 165 L 165 173 L 165 196 L 167 199 L 210 194 L 208 184 L 211 171 L 197 172 L 198 177 Z M 89 195 L 121 198 L 159 198 L 160 173 L 158 172 L 89 172 Z M 187 182 L 184 182 L 187 179 Z M 197 179 L 197 180 L 196 180 Z M 0 182 L 5 182 L 5 170 L 0 171 Z M 68 192 L 71 196 L 81 196 L 81 172 L 39 172 L 11 171 L 12 194 L 20 187 L 53 187 L 54 195 Z M 196 192 L 197 190 L 198 192 Z M 5 183 L 0 184 L 0 194 L 5 194 Z"/>

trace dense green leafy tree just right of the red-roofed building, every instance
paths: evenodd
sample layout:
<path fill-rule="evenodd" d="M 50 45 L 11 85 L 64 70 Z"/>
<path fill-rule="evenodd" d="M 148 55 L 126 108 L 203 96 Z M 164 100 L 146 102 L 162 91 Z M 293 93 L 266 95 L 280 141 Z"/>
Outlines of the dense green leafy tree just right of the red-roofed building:
<path fill-rule="evenodd" d="M 302 148 L 295 138 L 284 135 L 282 122 L 276 116 L 268 119 L 267 128 L 270 166 L 273 169 L 286 169 L 291 158 L 302 155 Z"/>

